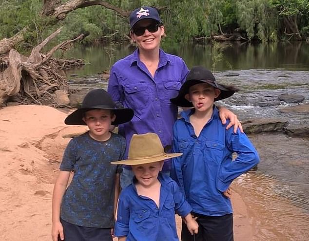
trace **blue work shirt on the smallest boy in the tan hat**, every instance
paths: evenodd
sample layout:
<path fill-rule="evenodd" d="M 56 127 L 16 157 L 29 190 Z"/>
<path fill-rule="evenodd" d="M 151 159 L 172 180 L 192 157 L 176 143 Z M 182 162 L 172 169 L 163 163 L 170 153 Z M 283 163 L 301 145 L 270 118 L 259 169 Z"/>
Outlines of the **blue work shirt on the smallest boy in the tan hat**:
<path fill-rule="evenodd" d="M 179 241 L 175 212 L 185 217 L 192 208 L 169 176 L 159 173 L 161 183 L 160 206 L 137 194 L 134 183 L 120 194 L 115 235 L 126 236 L 126 241 Z"/>

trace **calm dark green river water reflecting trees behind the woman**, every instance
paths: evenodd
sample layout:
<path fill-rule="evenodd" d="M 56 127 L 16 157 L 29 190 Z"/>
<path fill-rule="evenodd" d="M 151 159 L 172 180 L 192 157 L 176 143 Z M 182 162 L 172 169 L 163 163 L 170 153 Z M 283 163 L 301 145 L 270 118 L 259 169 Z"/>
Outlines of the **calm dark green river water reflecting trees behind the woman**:
<path fill-rule="evenodd" d="M 225 44 L 225 43 L 222 43 Z M 212 69 L 212 45 L 175 44 L 164 45 L 167 53 L 181 56 L 188 67 L 203 65 Z M 88 63 L 78 70 L 69 70 L 67 75 L 102 73 L 109 70 L 118 59 L 131 54 L 135 47 L 122 44 L 116 47 L 109 45 L 76 46 L 65 53 L 65 57 L 83 58 Z M 309 70 L 309 44 L 305 42 L 251 44 L 234 43 L 224 49 L 224 57 L 216 64 L 215 71 L 248 70 L 248 69 L 285 69 Z M 111 56 L 111 59 L 110 57 Z"/>

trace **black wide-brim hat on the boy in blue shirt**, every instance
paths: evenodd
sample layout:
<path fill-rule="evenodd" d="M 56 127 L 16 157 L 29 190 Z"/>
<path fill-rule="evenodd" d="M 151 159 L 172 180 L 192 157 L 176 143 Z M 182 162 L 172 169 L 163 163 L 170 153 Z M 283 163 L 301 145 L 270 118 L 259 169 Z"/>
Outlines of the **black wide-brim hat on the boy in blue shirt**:
<path fill-rule="evenodd" d="M 178 95 L 175 98 L 170 99 L 170 101 L 176 106 L 193 107 L 192 103 L 185 98 L 185 95 L 189 93 L 189 88 L 191 86 L 200 83 L 209 84 L 221 91 L 219 96 L 214 98 L 214 101 L 226 99 L 237 91 L 237 89 L 233 86 L 218 84 L 212 72 L 205 69 L 203 66 L 194 66 L 187 75 L 186 82 L 180 87 Z"/>

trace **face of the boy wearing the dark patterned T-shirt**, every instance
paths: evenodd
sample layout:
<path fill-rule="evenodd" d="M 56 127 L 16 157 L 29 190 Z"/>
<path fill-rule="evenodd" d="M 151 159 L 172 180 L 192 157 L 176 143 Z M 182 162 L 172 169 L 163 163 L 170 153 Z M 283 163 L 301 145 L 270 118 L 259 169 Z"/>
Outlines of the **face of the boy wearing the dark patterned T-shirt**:
<path fill-rule="evenodd" d="M 98 141 L 105 141 L 110 137 L 109 129 L 116 115 L 110 110 L 95 109 L 85 112 L 83 121 L 87 124 L 90 135 Z"/>

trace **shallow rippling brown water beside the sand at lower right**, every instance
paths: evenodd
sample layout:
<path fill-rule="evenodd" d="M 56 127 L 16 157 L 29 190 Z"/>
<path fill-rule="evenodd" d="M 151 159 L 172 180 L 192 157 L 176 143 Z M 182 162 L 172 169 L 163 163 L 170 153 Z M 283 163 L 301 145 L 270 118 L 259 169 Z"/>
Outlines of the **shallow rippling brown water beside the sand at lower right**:
<path fill-rule="evenodd" d="M 261 162 L 236 179 L 254 217 L 254 241 L 309 240 L 309 140 L 283 134 L 250 136 Z"/>

